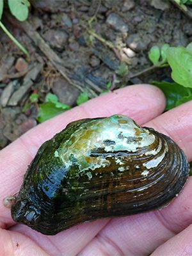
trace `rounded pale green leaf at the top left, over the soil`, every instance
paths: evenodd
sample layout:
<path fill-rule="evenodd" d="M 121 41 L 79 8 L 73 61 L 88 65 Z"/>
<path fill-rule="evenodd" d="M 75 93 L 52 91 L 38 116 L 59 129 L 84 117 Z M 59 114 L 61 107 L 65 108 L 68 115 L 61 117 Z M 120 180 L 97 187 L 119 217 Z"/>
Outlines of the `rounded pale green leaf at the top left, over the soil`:
<path fill-rule="evenodd" d="M 28 19 L 30 6 L 28 0 L 8 0 L 8 6 L 13 16 L 18 20 L 24 21 Z"/>

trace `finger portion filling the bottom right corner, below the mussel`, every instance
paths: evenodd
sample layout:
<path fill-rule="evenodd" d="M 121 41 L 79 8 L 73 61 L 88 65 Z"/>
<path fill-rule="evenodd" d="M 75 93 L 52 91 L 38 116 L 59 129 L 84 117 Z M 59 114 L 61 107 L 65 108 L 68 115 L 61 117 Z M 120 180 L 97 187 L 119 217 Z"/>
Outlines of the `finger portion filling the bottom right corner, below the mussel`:
<path fill-rule="evenodd" d="M 151 254 L 151 256 L 162 255 L 192 255 L 192 225 L 159 246 L 155 252 Z"/>

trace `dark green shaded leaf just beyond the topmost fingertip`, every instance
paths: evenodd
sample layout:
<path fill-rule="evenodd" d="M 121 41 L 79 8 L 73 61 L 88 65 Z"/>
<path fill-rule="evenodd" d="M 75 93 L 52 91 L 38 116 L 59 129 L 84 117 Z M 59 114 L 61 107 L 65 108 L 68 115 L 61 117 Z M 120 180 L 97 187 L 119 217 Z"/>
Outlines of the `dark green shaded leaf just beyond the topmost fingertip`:
<path fill-rule="evenodd" d="M 163 91 L 166 97 L 165 110 L 175 108 L 176 106 L 179 106 L 191 99 L 192 90 L 190 88 L 184 88 L 180 84 L 157 81 L 154 81 L 152 84 L 156 85 Z"/>

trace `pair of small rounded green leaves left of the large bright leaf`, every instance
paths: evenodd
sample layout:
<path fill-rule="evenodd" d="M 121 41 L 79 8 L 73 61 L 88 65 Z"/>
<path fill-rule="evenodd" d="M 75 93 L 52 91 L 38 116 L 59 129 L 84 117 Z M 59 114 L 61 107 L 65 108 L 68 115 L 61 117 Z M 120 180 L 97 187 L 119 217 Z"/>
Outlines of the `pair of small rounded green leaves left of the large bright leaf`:
<path fill-rule="evenodd" d="M 149 60 L 156 66 L 156 67 L 166 67 L 167 65 L 167 51 L 170 45 L 163 44 L 161 48 L 159 46 L 154 45 L 151 47 L 150 51 L 148 52 Z"/>

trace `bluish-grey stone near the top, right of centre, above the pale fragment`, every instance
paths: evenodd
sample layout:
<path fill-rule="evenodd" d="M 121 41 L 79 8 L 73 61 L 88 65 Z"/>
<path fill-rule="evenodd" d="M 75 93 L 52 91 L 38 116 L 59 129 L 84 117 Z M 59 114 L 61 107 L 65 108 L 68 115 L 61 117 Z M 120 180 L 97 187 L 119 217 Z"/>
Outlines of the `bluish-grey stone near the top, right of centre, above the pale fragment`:
<path fill-rule="evenodd" d="M 122 17 L 120 17 L 116 13 L 109 14 L 108 19 L 106 20 L 106 22 L 112 28 L 116 29 L 116 31 L 120 31 L 122 33 L 126 33 L 129 30 L 127 24 L 124 22 Z"/>

